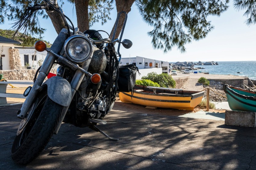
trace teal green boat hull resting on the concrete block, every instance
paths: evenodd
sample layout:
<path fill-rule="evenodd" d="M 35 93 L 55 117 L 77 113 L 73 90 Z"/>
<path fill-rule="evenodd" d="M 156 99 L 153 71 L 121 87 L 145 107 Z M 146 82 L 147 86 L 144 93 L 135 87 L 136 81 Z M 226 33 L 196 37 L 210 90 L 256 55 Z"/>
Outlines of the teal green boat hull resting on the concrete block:
<path fill-rule="evenodd" d="M 224 84 L 229 108 L 233 111 L 256 112 L 256 93 Z"/>

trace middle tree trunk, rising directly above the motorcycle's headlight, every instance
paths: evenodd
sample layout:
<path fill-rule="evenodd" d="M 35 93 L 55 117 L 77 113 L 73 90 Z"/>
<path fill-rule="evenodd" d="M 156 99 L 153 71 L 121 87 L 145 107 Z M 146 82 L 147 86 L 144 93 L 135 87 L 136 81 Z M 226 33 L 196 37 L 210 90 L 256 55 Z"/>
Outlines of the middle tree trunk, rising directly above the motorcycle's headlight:
<path fill-rule="evenodd" d="M 89 0 L 75 0 L 77 27 L 81 32 L 89 29 Z"/>

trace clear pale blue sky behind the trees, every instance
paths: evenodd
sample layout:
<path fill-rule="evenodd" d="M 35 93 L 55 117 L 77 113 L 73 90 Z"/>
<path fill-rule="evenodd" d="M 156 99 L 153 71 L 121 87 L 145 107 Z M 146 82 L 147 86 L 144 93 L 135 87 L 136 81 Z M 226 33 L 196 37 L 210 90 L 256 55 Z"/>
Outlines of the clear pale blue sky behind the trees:
<path fill-rule="evenodd" d="M 113 5 L 115 6 L 115 5 Z M 74 10 L 74 11 L 73 11 Z M 63 11 L 73 22 L 76 23 L 75 9 L 66 2 L 63 6 Z M 133 46 L 130 49 L 120 48 L 120 53 L 123 58 L 127 57 L 145 57 L 149 59 L 157 59 L 167 62 L 184 62 L 184 61 L 255 61 L 256 60 L 256 25 L 247 26 L 244 22 L 246 17 L 243 17 L 244 11 L 236 11 L 233 8 L 232 2 L 229 3 L 229 9 L 221 14 L 220 17 L 210 16 L 208 20 L 214 25 L 214 29 L 208 33 L 207 37 L 199 41 L 192 41 L 186 44 L 186 52 L 181 53 L 176 47 L 170 52 L 163 53 L 162 50 L 155 50 L 151 44 L 151 37 L 147 32 L 152 30 L 139 14 L 135 4 L 128 14 L 126 27 L 122 39 L 130 39 Z M 103 26 L 100 23 L 94 24 L 90 29 L 105 30 L 108 33 L 114 25 L 117 16 L 116 9 L 111 11 L 111 19 Z M 0 25 L 0 29 L 9 29 L 10 23 L 5 22 Z M 51 20 L 41 19 L 40 24 L 47 29 L 44 40 L 53 43 L 57 37 L 57 33 L 51 23 Z M 102 33 L 103 38 L 107 35 Z M 117 49 L 117 45 L 116 45 Z"/>

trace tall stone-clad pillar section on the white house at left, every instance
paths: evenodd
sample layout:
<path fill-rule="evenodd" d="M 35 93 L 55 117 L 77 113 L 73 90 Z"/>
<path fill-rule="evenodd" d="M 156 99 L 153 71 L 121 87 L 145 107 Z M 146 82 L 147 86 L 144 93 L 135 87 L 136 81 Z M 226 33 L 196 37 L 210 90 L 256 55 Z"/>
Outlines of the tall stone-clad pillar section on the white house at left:
<path fill-rule="evenodd" d="M 10 57 L 10 70 L 22 69 L 21 62 L 20 62 L 20 53 L 18 49 L 10 48 L 9 57 Z"/>

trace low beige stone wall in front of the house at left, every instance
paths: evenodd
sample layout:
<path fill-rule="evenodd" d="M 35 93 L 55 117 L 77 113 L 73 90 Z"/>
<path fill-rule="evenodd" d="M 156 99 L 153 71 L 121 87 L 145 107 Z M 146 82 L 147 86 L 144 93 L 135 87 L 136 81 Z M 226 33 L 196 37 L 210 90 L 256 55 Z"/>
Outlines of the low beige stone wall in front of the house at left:
<path fill-rule="evenodd" d="M 57 68 L 52 68 L 52 73 L 57 73 Z M 4 74 L 7 80 L 33 80 L 36 74 L 36 69 L 26 70 L 2 70 L 0 74 Z"/>

